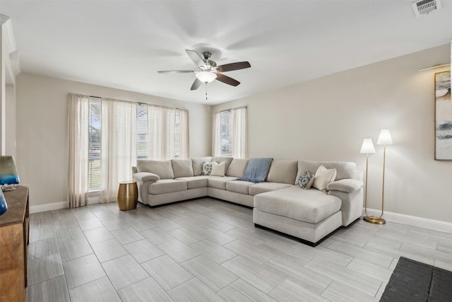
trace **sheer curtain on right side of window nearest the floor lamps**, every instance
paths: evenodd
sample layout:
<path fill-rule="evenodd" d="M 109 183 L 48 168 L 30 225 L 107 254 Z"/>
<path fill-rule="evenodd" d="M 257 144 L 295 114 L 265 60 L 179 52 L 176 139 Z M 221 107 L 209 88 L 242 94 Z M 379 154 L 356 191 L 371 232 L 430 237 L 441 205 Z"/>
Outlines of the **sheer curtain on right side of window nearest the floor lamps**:
<path fill-rule="evenodd" d="M 246 158 L 246 107 L 232 110 L 232 157 Z"/>

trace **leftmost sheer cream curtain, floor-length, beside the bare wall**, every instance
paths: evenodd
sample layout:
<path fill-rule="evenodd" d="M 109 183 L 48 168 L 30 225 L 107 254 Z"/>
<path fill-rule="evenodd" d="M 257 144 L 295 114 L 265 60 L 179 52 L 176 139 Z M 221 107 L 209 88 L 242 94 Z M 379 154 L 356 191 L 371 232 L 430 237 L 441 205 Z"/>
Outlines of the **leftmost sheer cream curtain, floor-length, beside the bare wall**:
<path fill-rule="evenodd" d="M 88 116 L 90 99 L 69 93 L 69 207 L 88 202 Z"/>

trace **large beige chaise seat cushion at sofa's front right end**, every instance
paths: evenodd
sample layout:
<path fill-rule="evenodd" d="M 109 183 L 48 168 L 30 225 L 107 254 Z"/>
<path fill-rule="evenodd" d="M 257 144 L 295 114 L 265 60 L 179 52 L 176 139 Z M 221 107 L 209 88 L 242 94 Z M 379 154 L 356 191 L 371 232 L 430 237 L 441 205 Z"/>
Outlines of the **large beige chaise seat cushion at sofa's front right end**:
<path fill-rule="evenodd" d="M 309 223 L 318 223 L 340 211 L 341 204 L 338 197 L 319 190 L 303 190 L 299 186 L 258 194 L 254 197 L 256 209 Z"/>

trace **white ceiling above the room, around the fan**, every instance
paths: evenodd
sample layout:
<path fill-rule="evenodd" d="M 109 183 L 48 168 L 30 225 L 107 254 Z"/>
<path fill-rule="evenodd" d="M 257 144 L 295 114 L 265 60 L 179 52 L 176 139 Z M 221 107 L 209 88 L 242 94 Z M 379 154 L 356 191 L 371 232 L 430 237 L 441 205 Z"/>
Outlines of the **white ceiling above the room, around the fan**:
<path fill-rule="evenodd" d="M 412 1 L 5 1 L 22 71 L 206 103 L 185 50 L 210 50 L 242 82 L 208 104 L 316 79 L 452 40 L 452 0 L 420 18 Z M 444 62 L 438 62 L 444 63 Z"/>

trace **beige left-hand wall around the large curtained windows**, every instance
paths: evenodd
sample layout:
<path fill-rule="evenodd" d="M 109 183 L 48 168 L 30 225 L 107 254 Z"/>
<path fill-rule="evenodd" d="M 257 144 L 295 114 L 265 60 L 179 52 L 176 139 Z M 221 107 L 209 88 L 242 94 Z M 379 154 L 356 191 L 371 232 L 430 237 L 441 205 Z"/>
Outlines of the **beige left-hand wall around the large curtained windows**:
<path fill-rule="evenodd" d="M 210 155 L 210 106 L 32 74 L 17 77 L 17 158 L 30 205 L 65 202 L 68 187 L 68 93 L 187 109 L 190 156 Z"/>

